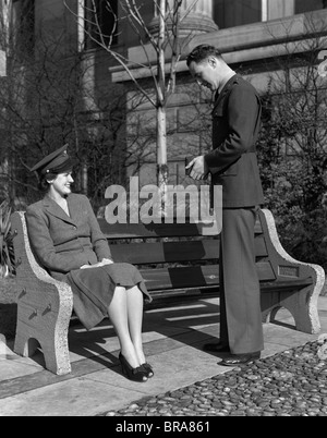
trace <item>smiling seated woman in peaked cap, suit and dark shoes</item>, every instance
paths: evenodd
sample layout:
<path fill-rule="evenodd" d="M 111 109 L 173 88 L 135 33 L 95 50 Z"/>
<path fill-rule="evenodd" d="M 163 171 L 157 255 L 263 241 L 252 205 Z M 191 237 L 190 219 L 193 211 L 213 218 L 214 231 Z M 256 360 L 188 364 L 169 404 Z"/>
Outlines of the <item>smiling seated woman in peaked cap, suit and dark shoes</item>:
<path fill-rule="evenodd" d="M 72 193 L 73 163 L 66 147 L 32 169 L 46 193 L 26 209 L 31 244 L 49 273 L 71 285 L 74 311 L 87 329 L 109 316 L 123 373 L 131 380 L 146 381 L 154 372 L 143 352 L 143 302 L 152 299 L 133 265 L 113 263 L 87 197 Z"/>

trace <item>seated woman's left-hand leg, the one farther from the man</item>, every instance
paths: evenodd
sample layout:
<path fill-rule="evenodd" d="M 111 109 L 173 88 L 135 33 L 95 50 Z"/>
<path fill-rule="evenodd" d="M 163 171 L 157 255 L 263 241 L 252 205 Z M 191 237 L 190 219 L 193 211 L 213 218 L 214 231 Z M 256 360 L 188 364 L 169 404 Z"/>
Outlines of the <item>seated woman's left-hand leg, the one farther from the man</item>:
<path fill-rule="evenodd" d="M 128 311 L 128 291 L 124 288 L 117 287 L 108 308 L 108 315 L 117 332 L 122 355 L 133 368 L 136 368 L 141 365 L 141 362 L 130 336 L 129 315 L 131 312 Z"/>

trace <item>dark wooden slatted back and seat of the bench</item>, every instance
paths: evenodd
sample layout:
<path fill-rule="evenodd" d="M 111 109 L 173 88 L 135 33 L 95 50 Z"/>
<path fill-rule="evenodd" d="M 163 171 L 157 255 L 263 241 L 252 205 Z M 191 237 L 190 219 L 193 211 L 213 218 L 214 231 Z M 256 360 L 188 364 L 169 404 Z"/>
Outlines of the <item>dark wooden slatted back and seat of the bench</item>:
<path fill-rule="evenodd" d="M 219 234 L 207 223 L 109 224 L 98 219 L 116 261 L 138 266 L 152 292 L 219 285 Z M 261 281 L 274 281 L 261 218 L 255 226 L 256 266 Z M 155 268 L 155 269 L 154 269 Z"/>

